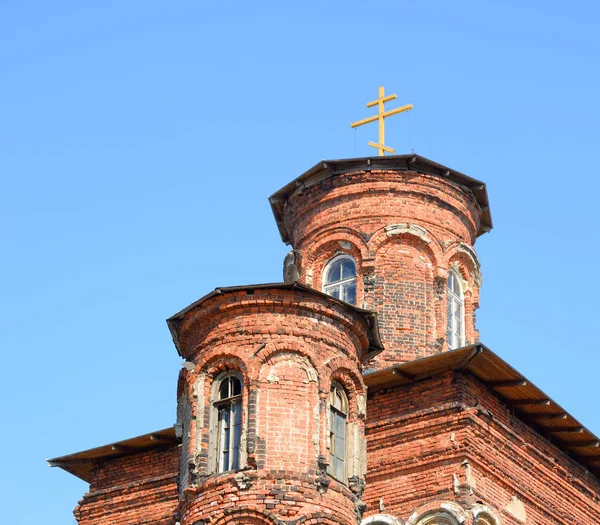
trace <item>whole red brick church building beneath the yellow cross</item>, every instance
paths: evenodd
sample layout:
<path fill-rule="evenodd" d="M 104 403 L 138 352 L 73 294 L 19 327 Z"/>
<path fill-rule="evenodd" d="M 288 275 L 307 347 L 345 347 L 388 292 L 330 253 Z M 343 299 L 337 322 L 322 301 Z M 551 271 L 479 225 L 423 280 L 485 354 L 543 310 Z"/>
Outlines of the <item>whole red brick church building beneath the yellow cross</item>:
<path fill-rule="evenodd" d="M 172 428 L 50 460 L 80 525 L 598 525 L 600 443 L 479 342 L 483 182 L 319 162 L 270 198 L 284 282 L 167 322 Z"/>

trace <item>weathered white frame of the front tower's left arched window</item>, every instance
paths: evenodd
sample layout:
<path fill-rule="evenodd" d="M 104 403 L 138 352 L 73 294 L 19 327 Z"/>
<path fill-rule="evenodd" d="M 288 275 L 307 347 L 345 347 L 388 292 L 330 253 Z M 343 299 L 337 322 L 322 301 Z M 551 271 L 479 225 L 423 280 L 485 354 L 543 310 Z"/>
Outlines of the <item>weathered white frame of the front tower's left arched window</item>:
<path fill-rule="evenodd" d="M 224 381 L 235 378 L 240 382 L 240 393 L 220 399 L 221 385 Z M 213 383 L 211 392 L 211 471 L 216 473 L 239 470 L 243 466 L 243 395 L 244 380 L 239 373 L 228 370 L 219 374 Z M 225 429 L 225 423 L 220 419 L 220 414 L 227 410 L 229 416 L 229 427 Z M 238 415 L 238 422 L 232 424 L 232 420 Z M 234 427 L 239 426 L 236 438 Z M 227 433 L 225 433 L 227 432 Z M 225 443 L 228 441 L 227 450 Z M 234 450 L 237 448 L 237 464 L 234 464 Z M 227 456 L 227 465 L 225 465 Z"/>

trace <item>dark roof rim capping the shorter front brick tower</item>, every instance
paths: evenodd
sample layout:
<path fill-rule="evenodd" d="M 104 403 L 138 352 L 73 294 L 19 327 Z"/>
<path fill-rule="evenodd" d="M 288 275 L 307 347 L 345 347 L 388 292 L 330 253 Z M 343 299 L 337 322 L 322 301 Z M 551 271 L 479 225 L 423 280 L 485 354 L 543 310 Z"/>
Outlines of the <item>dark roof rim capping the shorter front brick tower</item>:
<path fill-rule="evenodd" d="M 268 290 L 268 289 L 276 289 L 276 290 L 302 290 L 303 292 L 308 293 L 309 295 L 314 295 L 321 299 L 326 299 L 332 303 L 335 303 L 339 306 L 352 310 L 354 313 L 358 314 L 362 317 L 367 325 L 369 326 L 369 351 L 367 355 L 367 359 L 370 359 L 376 356 L 383 350 L 383 343 L 381 342 L 381 338 L 379 336 L 379 322 L 377 320 L 377 314 L 372 312 L 371 310 L 365 310 L 363 308 L 358 308 L 357 306 L 353 306 L 345 301 L 341 301 L 339 299 L 335 299 L 326 293 L 315 290 L 314 288 L 307 286 L 305 284 L 301 284 L 299 282 L 289 282 L 289 283 L 262 283 L 262 284 L 248 284 L 245 286 L 227 286 L 223 288 L 215 288 L 212 292 L 206 294 L 204 297 L 201 297 L 197 301 L 193 302 L 180 312 L 177 312 L 175 315 L 169 317 L 167 319 L 167 325 L 169 330 L 171 331 L 171 336 L 173 337 L 173 343 L 175 344 L 175 348 L 177 348 L 177 352 L 180 356 L 181 349 L 179 347 L 179 330 L 181 327 L 181 323 L 183 322 L 186 314 L 191 310 L 201 306 L 204 302 L 208 301 L 212 297 L 217 295 L 223 295 L 227 293 L 235 293 L 239 291 L 245 290 Z M 183 356 L 182 356 L 183 357 Z"/>

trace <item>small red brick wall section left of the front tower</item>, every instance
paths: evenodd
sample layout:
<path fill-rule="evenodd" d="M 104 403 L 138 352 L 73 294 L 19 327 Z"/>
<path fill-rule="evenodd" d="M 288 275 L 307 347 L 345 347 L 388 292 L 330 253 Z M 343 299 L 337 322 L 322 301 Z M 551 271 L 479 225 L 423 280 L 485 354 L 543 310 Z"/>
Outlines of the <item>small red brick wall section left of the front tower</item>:
<path fill-rule="evenodd" d="M 177 447 L 104 460 L 75 508 L 80 525 L 174 525 Z"/>

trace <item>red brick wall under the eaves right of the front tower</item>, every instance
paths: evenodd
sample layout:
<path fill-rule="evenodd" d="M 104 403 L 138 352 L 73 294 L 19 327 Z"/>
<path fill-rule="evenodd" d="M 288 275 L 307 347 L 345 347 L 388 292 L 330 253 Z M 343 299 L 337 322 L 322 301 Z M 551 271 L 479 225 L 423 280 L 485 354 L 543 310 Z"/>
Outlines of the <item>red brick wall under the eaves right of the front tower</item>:
<path fill-rule="evenodd" d="M 471 376 L 372 392 L 367 411 L 367 515 L 383 498 L 404 520 L 450 501 L 503 525 L 600 523 L 598 480 Z"/>

